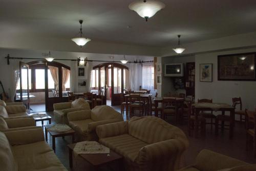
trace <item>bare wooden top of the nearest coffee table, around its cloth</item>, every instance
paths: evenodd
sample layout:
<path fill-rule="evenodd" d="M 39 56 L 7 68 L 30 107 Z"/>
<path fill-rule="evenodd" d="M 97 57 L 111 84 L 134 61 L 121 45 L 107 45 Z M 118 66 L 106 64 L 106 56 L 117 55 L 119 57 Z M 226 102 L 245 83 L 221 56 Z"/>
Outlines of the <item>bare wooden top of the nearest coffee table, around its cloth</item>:
<path fill-rule="evenodd" d="M 69 144 L 68 148 L 73 151 L 75 145 L 76 143 Z M 122 156 L 112 150 L 110 150 L 109 156 L 108 154 L 79 154 L 79 156 L 81 156 L 84 160 L 88 161 L 93 166 L 99 166 L 122 158 Z"/>

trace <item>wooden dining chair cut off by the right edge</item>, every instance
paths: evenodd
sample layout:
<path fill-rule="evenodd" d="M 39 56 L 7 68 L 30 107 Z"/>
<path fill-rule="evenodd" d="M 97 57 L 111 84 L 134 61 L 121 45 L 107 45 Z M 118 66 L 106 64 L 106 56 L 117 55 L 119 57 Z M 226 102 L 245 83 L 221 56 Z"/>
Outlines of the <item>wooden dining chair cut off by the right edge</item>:
<path fill-rule="evenodd" d="M 253 155 L 256 158 L 256 112 L 245 109 L 246 151 L 249 150 L 250 140 L 253 141 Z"/>

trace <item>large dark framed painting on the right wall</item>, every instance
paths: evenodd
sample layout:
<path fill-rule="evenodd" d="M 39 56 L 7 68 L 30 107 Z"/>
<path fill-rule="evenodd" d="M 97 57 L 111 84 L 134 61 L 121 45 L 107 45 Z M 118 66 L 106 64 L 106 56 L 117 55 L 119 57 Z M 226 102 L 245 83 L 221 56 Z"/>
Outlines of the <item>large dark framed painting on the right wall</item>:
<path fill-rule="evenodd" d="M 256 53 L 218 56 L 218 80 L 256 81 Z"/>

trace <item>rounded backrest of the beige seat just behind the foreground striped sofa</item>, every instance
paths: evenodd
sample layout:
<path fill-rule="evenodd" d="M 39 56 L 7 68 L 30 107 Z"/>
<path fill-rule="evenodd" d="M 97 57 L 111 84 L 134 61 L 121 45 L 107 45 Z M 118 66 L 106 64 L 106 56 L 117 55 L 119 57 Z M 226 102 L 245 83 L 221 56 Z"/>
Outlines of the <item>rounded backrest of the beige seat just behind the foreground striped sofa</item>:
<path fill-rule="evenodd" d="M 95 106 L 92 109 L 91 119 L 93 119 L 94 121 L 120 119 L 120 121 L 122 121 L 123 117 L 121 113 L 119 113 L 112 107 L 102 105 L 102 106 Z"/>

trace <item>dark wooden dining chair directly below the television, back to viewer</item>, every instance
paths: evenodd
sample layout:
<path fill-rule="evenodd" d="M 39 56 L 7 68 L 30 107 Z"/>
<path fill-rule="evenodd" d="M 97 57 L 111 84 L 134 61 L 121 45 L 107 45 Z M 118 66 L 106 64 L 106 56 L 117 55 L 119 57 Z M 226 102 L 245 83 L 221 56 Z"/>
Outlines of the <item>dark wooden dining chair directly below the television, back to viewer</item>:
<path fill-rule="evenodd" d="M 170 108 L 170 106 L 172 108 Z M 162 101 L 162 118 L 167 120 L 167 116 L 175 116 L 176 122 L 178 122 L 178 106 L 176 99 L 164 98 Z"/>

